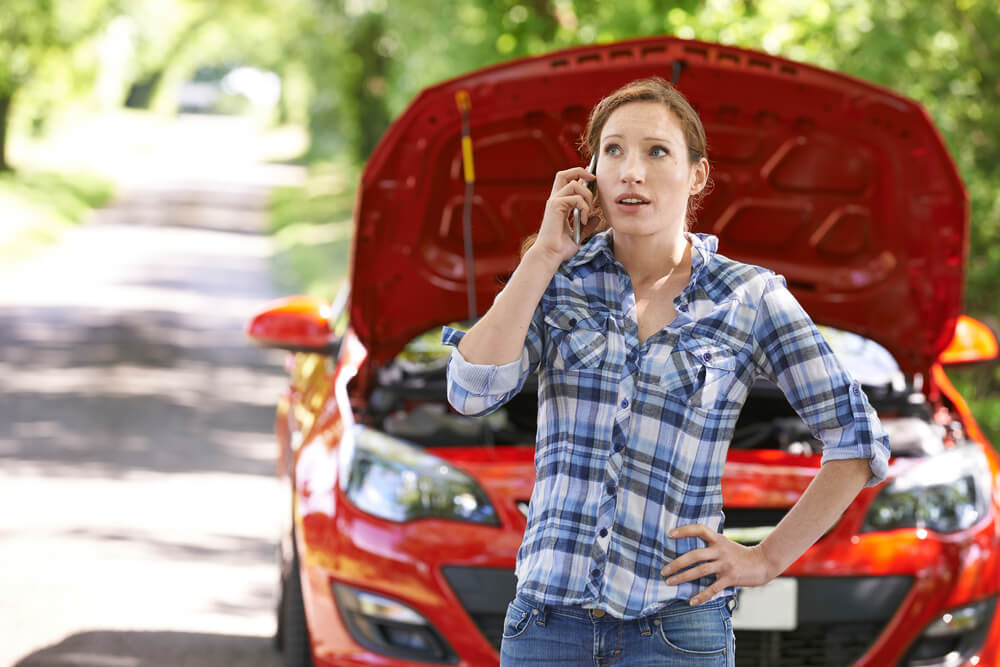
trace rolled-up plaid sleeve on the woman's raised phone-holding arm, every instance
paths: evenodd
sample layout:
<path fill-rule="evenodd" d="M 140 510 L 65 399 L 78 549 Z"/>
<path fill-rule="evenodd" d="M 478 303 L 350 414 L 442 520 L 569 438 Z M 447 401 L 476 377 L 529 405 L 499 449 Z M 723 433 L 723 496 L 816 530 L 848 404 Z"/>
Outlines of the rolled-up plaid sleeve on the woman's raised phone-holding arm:
<path fill-rule="evenodd" d="M 472 364 L 458 351 L 464 331 L 444 327 L 441 342 L 454 345 L 448 360 L 448 402 L 464 415 L 486 415 L 513 398 L 538 369 L 542 356 L 542 312 L 535 309 L 521 358 L 508 364 Z"/>

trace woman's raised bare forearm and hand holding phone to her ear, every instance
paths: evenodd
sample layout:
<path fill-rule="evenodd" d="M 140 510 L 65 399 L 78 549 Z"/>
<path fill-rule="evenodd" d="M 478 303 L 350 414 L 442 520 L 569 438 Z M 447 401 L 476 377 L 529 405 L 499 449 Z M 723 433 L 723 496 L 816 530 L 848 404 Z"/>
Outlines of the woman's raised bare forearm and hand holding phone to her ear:
<path fill-rule="evenodd" d="M 583 181 L 594 178 L 583 167 L 556 174 L 535 243 L 490 309 L 459 341 L 458 351 L 467 362 L 501 365 L 521 357 L 531 318 L 545 288 L 559 265 L 578 249 L 567 222 L 574 207 L 581 209 L 584 220 L 589 219 L 593 194 Z"/>

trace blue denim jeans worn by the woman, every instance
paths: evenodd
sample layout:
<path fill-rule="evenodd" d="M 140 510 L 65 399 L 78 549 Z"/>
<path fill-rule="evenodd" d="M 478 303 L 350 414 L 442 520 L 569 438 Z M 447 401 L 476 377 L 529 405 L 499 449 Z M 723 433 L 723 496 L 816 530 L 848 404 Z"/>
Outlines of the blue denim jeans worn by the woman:
<path fill-rule="evenodd" d="M 518 595 L 507 607 L 500 667 L 733 667 L 730 600 L 696 607 L 675 600 L 655 614 L 622 621 Z"/>

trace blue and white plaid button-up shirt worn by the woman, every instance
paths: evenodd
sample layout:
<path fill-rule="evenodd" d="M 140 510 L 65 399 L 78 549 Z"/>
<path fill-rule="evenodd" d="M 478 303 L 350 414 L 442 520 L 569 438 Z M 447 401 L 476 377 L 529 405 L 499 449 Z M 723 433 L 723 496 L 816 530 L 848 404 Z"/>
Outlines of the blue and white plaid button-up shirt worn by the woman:
<path fill-rule="evenodd" d="M 885 478 L 875 411 L 784 279 L 717 254 L 714 236 L 688 239 L 677 316 L 641 343 L 607 231 L 559 267 L 520 360 L 470 364 L 452 351 L 448 400 L 463 414 L 496 410 L 538 372 L 536 481 L 516 573 L 518 592 L 540 604 L 633 619 L 711 585 L 714 575 L 667 584 L 660 569 L 704 546 L 667 533 L 689 523 L 722 531 L 726 450 L 758 376 L 823 441 L 823 462 L 868 459 L 868 486 Z M 463 335 L 446 327 L 442 342 Z"/>

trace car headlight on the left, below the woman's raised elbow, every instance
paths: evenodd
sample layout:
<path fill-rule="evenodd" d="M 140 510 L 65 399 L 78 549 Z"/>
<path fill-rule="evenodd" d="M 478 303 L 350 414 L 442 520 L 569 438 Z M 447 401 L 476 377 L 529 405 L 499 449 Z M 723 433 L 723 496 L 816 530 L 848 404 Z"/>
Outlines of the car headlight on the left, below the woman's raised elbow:
<path fill-rule="evenodd" d="M 426 517 L 500 525 L 472 477 L 416 445 L 356 425 L 340 449 L 344 493 L 359 509 L 390 521 Z"/>

